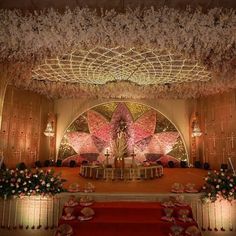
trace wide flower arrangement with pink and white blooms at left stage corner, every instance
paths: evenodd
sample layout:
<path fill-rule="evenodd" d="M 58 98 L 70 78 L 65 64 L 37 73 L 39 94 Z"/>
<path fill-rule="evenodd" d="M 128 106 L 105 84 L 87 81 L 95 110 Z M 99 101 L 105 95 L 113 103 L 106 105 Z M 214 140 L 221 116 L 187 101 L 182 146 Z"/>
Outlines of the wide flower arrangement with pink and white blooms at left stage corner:
<path fill-rule="evenodd" d="M 0 197 L 11 196 L 52 196 L 64 192 L 64 179 L 55 175 L 54 171 L 42 169 L 6 169 L 0 171 Z"/>

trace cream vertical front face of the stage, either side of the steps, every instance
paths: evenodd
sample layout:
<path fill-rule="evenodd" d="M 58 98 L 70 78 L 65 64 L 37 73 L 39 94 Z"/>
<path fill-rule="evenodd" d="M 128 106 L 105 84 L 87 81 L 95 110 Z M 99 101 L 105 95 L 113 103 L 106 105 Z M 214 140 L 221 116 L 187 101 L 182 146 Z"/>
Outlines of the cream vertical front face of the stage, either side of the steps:
<path fill-rule="evenodd" d="M 162 201 L 167 194 L 89 193 L 95 201 Z M 54 229 L 70 193 L 54 197 L 23 197 L 0 200 L 0 226 L 8 229 Z M 78 197 L 87 193 L 77 193 Z M 174 195 L 174 194 L 171 194 Z M 186 194 L 193 216 L 202 231 L 236 232 L 236 201 L 203 203 L 201 194 Z"/>

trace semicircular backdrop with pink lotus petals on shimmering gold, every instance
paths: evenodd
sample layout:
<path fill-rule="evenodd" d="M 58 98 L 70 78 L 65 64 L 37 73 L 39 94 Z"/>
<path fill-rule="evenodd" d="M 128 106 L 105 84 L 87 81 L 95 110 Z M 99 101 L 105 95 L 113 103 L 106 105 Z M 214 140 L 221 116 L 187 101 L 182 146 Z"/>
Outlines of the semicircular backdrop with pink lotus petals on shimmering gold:
<path fill-rule="evenodd" d="M 59 159 L 67 165 L 71 160 L 112 160 L 115 156 L 136 162 L 187 160 L 180 133 L 161 113 L 133 102 L 110 102 L 79 115 L 67 128 L 59 149 Z"/>

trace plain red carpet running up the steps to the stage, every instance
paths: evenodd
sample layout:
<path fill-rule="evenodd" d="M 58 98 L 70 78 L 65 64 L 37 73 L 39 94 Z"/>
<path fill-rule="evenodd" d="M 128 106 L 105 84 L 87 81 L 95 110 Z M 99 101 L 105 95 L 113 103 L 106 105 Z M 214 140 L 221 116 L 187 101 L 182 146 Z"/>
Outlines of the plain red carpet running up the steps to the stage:
<path fill-rule="evenodd" d="M 100 202 L 92 208 L 95 216 L 91 221 L 60 220 L 60 224 L 70 224 L 74 236 L 167 236 L 173 225 L 161 220 L 163 207 L 157 202 Z M 175 207 L 175 217 L 179 209 Z M 76 216 L 80 215 L 80 210 L 81 207 L 75 208 Z M 176 222 L 185 229 L 196 224 Z"/>

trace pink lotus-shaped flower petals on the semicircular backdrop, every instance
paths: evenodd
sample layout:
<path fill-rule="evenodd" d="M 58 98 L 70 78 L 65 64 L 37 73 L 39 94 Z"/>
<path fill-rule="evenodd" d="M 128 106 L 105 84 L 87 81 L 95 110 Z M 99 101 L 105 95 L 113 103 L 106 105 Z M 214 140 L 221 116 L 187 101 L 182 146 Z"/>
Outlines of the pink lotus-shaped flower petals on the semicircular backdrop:
<path fill-rule="evenodd" d="M 163 116 L 151 108 L 140 112 L 138 117 L 136 115 L 134 118 L 135 114 L 131 112 L 134 109 L 131 106 L 131 103 L 117 103 L 114 110 L 109 111 L 110 119 L 102 112 L 89 110 L 86 113 L 87 130 L 85 128 L 86 131 L 71 130 L 67 132 L 61 150 L 67 145 L 67 148 L 73 150 L 73 155 L 97 153 L 98 159 L 101 161 L 104 159 L 106 149 L 108 149 L 112 157 L 112 145 L 119 138 L 122 124 L 122 132 L 127 143 L 127 157 L 134 151 L 137 161 L 144 161 L 146 159 L 145 155 L 150 153 L 160 155 L 170 153 L 177 140 L 181 138 L 173 124 L 168 121 L 172 128 L 166 130 L 166 127 L 160 123 L 163 121 Z M 135 107 L 135 105 L 133 106 Z M 159 125 L 164 127 L 163 130 Z M 70 156 L 72 155 L 64 156 L 62 159 L 70 158 Z M 179 159 L 179 157 L 176 157 L 176 159 Z"/>

